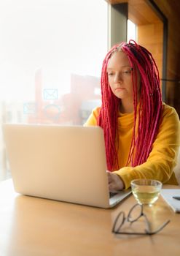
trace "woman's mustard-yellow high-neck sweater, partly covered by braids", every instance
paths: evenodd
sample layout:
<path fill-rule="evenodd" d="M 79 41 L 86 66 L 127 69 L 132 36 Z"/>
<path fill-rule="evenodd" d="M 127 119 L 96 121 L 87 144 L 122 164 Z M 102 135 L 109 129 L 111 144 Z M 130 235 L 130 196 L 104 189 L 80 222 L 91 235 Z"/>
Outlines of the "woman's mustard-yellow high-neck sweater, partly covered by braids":
<path fill-rule="evenodd" d="M 95 108 L 88 118 L 85 126 L 97 125 L 100 108 Z M 180 123 L 176 110 L 163 104 L 163 121 L 160 131 L 154 140 L 152 151 L 142 165 L 125 167 L 130 151 L 133 133 L 133 113 L 119 113 L 119 163 L 120 170 L 115 170 L 124 181 L 125 189 L 130 187 L 130 181 L 136 178 L 152 178 L 162 181 L 163 184 L 178 184 L 173 167 L 176 165 L 180 145 Z"/>

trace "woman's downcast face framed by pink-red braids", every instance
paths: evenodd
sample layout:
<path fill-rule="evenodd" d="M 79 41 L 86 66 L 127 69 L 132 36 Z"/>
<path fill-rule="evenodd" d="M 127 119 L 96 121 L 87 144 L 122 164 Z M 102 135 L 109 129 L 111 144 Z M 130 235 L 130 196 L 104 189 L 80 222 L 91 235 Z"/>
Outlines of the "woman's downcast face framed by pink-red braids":
<path fill-rule="evenodd" d="M 133 102 L 133 82 L 130 67 L 130 61 L 122 51 L 115 52 L 107 66 L 107 75 L 109 86 L 113 94 L 123 100 Z M 138 91 L 140 88 L 140 79 L 138 75 Z M 138 92 L 139 94 L 139 92 Z"/>

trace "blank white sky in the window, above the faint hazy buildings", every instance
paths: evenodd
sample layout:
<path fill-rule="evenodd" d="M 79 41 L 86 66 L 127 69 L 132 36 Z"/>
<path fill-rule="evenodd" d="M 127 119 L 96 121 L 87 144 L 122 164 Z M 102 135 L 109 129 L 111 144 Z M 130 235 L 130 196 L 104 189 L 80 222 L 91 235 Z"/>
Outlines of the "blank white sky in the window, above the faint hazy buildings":
<path fill-rule="evenodd" d="M 1 100 L 33 100 L 39 69 L 43 86 L 58 88 L 59 94 L 69 92 L 72 73 L 100 76 L 106 5 L 102 0 L 1 1 Z"/>

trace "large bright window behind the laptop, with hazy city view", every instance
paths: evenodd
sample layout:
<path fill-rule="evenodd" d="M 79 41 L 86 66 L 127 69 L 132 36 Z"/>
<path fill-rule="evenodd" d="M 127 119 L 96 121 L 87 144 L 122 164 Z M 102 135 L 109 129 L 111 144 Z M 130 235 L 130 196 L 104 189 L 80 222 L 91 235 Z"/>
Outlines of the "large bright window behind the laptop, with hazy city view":
<path fill-rule="evenodd" d="M 83 124 L 101 104 L 106 1 L 1 1 L 0 34 L 1 123 Z"/>

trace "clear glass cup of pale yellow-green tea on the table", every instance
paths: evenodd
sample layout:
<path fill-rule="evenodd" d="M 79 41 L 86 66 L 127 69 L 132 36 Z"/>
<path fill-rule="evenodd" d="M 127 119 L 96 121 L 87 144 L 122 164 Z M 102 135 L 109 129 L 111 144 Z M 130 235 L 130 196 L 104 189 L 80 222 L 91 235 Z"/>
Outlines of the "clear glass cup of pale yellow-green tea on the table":
<path fill-rule="evenodd" d="M 130 182 L 133 196 L 139 204 L 152 206 L 158 199 L 163 184 L 152 179 L 135 179 Z"/>

